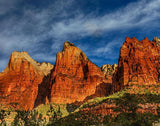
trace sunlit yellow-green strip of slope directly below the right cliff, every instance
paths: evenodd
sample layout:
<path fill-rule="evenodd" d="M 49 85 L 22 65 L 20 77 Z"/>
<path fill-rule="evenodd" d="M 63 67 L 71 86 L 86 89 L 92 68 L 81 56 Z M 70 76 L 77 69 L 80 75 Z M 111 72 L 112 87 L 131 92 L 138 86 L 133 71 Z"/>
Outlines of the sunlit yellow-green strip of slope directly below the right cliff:
<path fill-rule="evenodd" d="M 141 86 L 139 85 L 132 85 L 132 86 L 136 86 L 137 89 L 135 89 L 133 91 L 133 88 L 128 87 L 125 88 L 121 91 L 118 91 L 116 93 L 113 93 L 107 97 L 97 97 L 97 98 L 93 98 L 91 100 L 89 100 L 88 102 L 85 102 L 84 104 L 82 104 L 79 108 L 76 109 L 76 111 L 79 111 L 80 109 L 83 108 L 91 108 L 103 103 L 115 103 L 116 99 L 120 99 L 121 97 L 123 97 L 124 95 L 126 95 L 127 93 L 129 94 L 133 94 L 134 96 L 136 96 L 139 99 L 139 103 L 141 104 L 145 104 L 145 103 L 151 103 L 151 104 L 156 104 L 156 103 L 160 103 L 160 93 L 156 93 L 155 90 L 150 90 L 149 88 L 157 88 L 157 85 L 143 85 L 143 88 L 141 88 Z M 152 91 L 152 92 L 151 92 Z M 133 92 L 133 93 L 130 93 Z"/>

